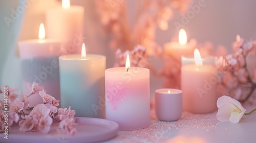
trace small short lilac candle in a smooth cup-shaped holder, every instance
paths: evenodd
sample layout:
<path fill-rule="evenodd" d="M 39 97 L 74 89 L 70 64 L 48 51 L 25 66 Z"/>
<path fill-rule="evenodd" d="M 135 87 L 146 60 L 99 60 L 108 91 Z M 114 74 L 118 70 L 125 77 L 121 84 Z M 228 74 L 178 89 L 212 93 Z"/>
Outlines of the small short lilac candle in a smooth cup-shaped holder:
<path fill-rule="evenodd" d="M 182 114 L 182 91 L 173 88 L 155 91 L 155 112 L 158 120 L 177 121 Z"/>

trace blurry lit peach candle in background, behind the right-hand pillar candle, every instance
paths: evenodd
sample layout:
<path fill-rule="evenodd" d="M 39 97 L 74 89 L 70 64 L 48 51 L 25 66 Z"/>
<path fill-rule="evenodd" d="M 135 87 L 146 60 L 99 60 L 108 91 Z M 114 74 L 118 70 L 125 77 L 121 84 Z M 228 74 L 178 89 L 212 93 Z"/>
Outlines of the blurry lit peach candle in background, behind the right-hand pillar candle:
<path fill-rule="evenodd" d="M 192 55 L 196 42 L 190 40 L 187 43 L 187 35 L 184 29 L 179 32 L 179 42 L 172 41 L 164 44 L 164 52 L 166 55 L 174 58 L 175 61 L 180 63 L 182 55 Z"/>

